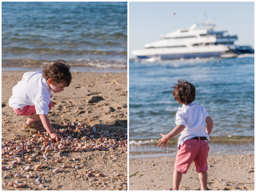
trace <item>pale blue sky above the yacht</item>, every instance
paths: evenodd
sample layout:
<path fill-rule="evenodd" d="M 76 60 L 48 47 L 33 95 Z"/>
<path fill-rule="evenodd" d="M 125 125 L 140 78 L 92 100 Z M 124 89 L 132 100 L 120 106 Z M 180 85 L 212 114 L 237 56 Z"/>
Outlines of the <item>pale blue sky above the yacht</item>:
<path fill-rule="evenodd" d="M 173 15 L 175 13 L 175 15 Z M 129 2 L 129 58 L 159 35 L 209 20 L 254 48 L 254 2 Z"/>

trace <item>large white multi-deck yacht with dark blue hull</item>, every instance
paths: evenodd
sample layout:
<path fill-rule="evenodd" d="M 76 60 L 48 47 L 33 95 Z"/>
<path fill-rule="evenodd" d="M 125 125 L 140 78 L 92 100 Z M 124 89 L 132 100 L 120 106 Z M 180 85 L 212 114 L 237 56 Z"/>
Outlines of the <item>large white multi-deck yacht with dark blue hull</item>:
<path fill-rule="evenodd" d="M 227 31 L 214 31 L 215 25 L 193 24 L 189 28 L 160 35 L 160 40 L 145 44 L 145 49 L 132 50 L 138 59 L 172 60 L 208 57 L 236 57 L 254 53 L 250 46 L 237 46 L 237 36 Z"/>

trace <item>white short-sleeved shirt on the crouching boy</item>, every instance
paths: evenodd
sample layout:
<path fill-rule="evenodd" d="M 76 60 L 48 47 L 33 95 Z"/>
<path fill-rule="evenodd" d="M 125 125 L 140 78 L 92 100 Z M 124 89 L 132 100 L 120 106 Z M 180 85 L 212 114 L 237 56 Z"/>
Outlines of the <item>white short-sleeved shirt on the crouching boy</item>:
<path fill-rule="evenodd" d="M 36 114 L 47 115 L 52 93 L 42 75 L 42 71 L 24 73 L 24 79 L 12 88 L 9 105 L 16 109 L 34 105 Z"/>

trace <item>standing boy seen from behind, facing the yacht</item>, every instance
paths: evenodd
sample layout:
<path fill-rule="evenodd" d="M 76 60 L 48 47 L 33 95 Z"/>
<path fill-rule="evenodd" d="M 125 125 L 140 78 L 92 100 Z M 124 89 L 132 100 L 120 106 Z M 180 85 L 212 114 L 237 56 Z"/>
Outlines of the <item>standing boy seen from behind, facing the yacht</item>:
<path fill-rule="evenodd" d="M 208 141 L 210 140 L 210 133 L 212 131 L 213 122 L 208 115 L 206 109 L 193 101 L 196 98 L 196 88 L 194 85 L 186 80 L 178 80 L 178 84 L 174 87 L 172 95 L 181 108 L 176 114 L 176 127 L 167 135 L 162 133 L 162 139 L 157 141 L 158 147 L 161 148 L 170 139 L 181 133 L 178 140 L 178 153 L 173 172 L 173 188 L 170 190 L 179 190 L 182 174 L 187 173 L 192 161 L 195 163 L 196 172 L 199 174 L 201 183 L 201 190 L 208 190 L 207 188 L 207 157 L 209 152 Z M 207 124 L 205 130 L 205 122 Z"/>

